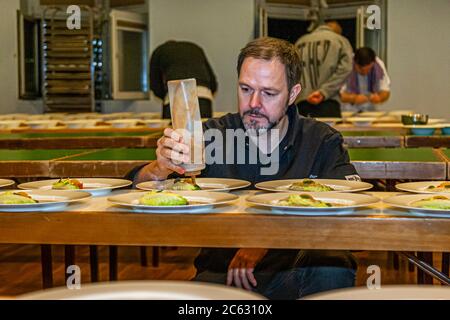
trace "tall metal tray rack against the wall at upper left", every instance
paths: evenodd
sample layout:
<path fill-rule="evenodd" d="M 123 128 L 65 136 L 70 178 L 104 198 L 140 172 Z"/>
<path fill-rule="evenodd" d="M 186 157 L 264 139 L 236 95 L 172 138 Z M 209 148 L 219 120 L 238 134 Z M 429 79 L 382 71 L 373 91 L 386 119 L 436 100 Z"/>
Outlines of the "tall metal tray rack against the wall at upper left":
<path fill-rule="evenodd" d="M 81 29 L 67 27 L 63 7 L 42 13 L 42 98 L 46 111 L 94 109 L 93 12 L 82 9 Z"/>

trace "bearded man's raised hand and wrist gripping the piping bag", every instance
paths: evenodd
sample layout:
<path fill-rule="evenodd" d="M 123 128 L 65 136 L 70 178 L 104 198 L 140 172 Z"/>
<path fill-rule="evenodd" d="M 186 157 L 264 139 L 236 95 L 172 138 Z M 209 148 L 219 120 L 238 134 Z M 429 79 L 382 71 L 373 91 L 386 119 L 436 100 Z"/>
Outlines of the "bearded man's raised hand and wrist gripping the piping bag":
<path fill-rule="evenodd" d="M 179 164 L 189 162 L 190 150 L 183 137 L 173 129 L 166 128 L 157 145 L 156 161 L 139 172 L 138 181 L 164 180 L 172 172 L 184 174 Z"/>

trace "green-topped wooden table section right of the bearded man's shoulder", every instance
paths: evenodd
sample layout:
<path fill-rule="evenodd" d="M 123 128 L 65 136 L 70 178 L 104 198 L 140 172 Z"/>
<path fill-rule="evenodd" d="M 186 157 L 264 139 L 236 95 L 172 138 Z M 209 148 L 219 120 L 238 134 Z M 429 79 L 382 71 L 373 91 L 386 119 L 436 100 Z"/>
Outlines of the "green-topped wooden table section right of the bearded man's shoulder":
<path fill-rule="evenodd" d="M 364 179 L 446 179 L 447 162 L 432 148 L 349 149 L 350 159 Z"/>

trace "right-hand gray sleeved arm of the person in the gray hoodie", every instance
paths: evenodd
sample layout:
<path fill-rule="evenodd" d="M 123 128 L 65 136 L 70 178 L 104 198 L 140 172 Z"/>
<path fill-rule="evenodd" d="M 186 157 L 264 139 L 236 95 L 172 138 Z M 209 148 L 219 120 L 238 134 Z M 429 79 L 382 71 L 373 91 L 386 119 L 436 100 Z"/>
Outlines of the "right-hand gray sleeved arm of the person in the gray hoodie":
<path fill-rule="evenodd" d="M 338 64 L 333 75 L 318 89 L 322 94 L 323 100 L 326 100 L 339 92 L 342 84 L 353 68 L 353 50 L 350 43 L 344 39 L 342 48 L 339 52 Z"/>

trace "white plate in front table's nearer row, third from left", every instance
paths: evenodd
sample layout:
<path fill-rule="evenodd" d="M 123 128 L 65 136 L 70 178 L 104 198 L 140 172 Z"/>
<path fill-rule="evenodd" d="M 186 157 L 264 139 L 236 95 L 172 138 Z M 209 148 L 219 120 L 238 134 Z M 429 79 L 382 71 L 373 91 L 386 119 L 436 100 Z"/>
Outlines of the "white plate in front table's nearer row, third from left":
<path fill-rule="evenodd" d="M 301 193 L 302 192 L 298 192 L 298 194 Z M 314 208 L 278 205 L 278 201 L 286 199 L 287 197 L 292 195 L 292 192 L 259 194 L 256 196 L 250 196 L 246 200 L 251 204 L 269 208 L 273 213 L 306 216 L 350 214 L 355 210 L 355 208 L 370 206 L 380 201 L 380 199 L 376 197 L 357 193 L 310 192 L 308 194 L 316 200 L 329 202 L 331 204 L 338 204 L 339 206 L 328 208 Z"/>

